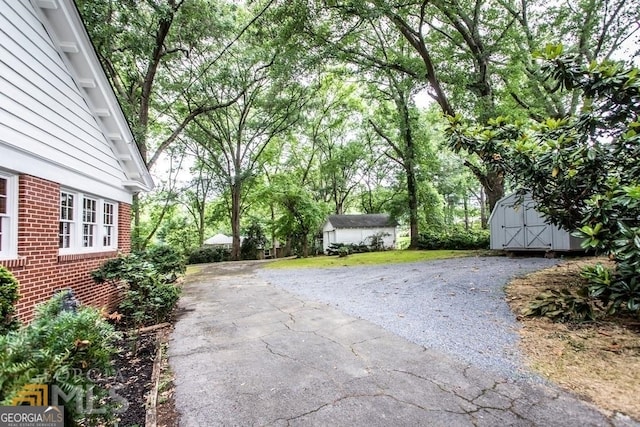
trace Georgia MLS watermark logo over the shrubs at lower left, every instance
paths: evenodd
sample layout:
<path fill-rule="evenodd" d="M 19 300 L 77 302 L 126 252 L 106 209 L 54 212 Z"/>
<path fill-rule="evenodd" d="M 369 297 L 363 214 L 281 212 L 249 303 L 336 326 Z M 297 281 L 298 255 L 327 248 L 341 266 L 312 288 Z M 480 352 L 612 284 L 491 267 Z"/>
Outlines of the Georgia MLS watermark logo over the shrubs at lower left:
<path fill-rule="evenodd" d="M 129 408 L 129 402 L 117 392 L 119 384 L 108 387 L 108 401 L 105 406 L 104 396 L 94 394 L 99 382 L 99 373 L 80 370 L 73 375 L 83 375 L 90 380 L 90 384 L 75 386 L 65 391 L 57 385 L 27 384 L 13 398 L 12 406 L 0 407 L 0 427 L 62 427 L 64 426 L 63 404 L 73 405 L 76 413 L 92 415 L 106 414 L 112 411 L 121 414 Z M 118 373 L 118 377 L 120 374 Z M 116 405 L 114 409 L 114 404 Z"/>

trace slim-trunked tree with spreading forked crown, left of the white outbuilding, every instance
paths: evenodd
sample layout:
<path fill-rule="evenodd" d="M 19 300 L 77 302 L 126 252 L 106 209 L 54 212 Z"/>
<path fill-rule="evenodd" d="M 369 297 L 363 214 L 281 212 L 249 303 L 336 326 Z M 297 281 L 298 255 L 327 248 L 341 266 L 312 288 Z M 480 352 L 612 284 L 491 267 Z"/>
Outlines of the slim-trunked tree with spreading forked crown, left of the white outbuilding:
<path fill-rule="evenodd" d="M 202 90 L 214 98 L 241 92 L 237 102 L 199 116 L 188 129 L 206 152 L 200 160 L 229 191 L 234 260 L 240 257 L 245 186 L 262 169 L 269 143 L 290 129 L 306 99 L 302 86 L 277 74 L 277 52 L 253 48 L 245 45 L 221 74 L 200 81 Z"/>

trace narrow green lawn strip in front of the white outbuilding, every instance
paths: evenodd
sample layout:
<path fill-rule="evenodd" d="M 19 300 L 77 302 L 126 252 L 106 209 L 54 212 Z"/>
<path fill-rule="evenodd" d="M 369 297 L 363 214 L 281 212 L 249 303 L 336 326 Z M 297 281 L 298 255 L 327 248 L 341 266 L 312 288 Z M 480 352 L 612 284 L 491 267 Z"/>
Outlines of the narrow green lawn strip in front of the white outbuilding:
<path fill-rule="evenodd" d="M 351 265 L 399 264 L 405 262 L 428 261 L 432 259 L 459 258 L 487 255 L 489 251 L 384 251 L 352 254 L 346 257 L 317 256 L 309 258 L 281 259 L 264 265 L 264 268 L 329 268 Z"/>

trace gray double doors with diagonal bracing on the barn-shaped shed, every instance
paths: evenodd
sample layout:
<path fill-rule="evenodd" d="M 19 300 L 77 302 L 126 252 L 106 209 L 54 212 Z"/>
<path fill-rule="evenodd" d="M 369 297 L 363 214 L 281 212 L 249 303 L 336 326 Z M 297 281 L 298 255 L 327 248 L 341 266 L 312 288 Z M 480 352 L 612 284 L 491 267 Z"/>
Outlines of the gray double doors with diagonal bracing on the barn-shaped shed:
<path fill-rule="evenodd" d="M 521 206 L 501 205 L 505 249 L 551 249 L 552 229 L 531 200 Z"/>

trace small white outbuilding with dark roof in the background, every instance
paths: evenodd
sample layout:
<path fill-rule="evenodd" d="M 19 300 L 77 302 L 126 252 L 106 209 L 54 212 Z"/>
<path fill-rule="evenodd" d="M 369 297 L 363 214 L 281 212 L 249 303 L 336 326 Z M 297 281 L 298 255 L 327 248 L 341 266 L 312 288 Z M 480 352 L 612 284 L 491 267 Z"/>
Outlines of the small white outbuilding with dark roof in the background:
<path fill-rule="evenodd" d="M 385 248 L 395 248 L 396 226 L 387 214 L 329 215 L 322 227 L 322 250 L 332 244 L 371 244 L 376 234 L 384 234 Z"/>

